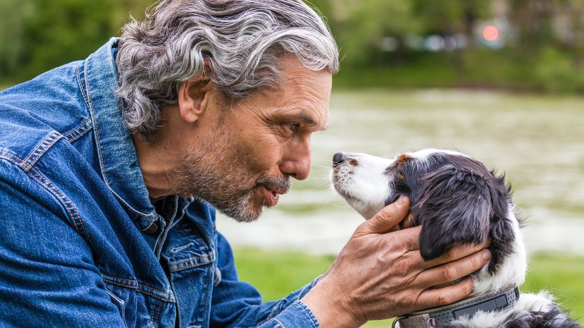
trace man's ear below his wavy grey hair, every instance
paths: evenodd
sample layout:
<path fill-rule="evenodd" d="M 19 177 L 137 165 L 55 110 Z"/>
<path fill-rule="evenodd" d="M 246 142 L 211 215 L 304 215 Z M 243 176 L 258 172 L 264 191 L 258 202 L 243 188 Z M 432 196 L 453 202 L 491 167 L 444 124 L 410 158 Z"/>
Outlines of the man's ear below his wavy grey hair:
<path fill-rule="evenodd" d="M 210 79 L 203 76 L 180 83 L 178 102 L 180 116 L 187 123 L 194 123 L 204 113 L 208 106 L 211 87 Z"/>

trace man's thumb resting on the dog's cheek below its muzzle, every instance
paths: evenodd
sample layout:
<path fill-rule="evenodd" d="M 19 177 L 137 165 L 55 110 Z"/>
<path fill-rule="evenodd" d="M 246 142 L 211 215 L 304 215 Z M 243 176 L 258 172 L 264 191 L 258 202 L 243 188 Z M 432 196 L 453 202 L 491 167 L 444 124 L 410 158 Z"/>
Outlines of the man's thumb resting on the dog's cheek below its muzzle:
<path fill-rule="evenodd" d="M 373 218 L 363 222 L 354 235 L 364 236 L 370 233 L 385 233 L 402 221 L 409 212 L 409 197 L 401 196 L 379 211 Z"/>

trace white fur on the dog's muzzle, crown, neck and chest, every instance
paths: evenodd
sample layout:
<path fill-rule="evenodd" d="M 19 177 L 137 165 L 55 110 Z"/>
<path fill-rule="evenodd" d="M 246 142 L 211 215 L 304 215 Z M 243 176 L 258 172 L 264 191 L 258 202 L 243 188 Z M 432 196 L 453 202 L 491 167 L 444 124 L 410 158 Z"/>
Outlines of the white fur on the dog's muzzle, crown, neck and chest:
<path fill-rule="evenodd" d="M 406 155 L 411 156 L 416 161 L 424 162 L 430 160 L 430 155 L 433 153 L 470 157 L 456 151 L 432 148 L 406 153 Z M 394 159 L 384 159 L 363 153 L 347 153 L 345 155 L 348 158 L 331 172 L 333 186 L 345 197 L 349 205 L 364 218 L 369 219 L 380 211 L 385 206 L 385 202 L 395 193 L 390 187 L 393 177 L 387 174 L 387 168 L 394 162 Z M 355 159 L 357 164 L 352 165 L 348 160 L 350 158 Z M 522 285 L 525 281 L 527 253 L 516 212 L 515 205 L 510 203 L 507 219 L 512 222 L 515 234 L 512 252 L 502 259 L 492 275 L 488 273 L 488 266 L 483 267 L 475 275 L 472 298 L 492 295 L 508 287 Z M 524 316 L 529 319 L 533 316 L 530 312 L 549 312 L 554 306 L 554 298 L 546 291 L 541 291 L 539 294 L 521 294 L 519 301 L 512 308 L 499 312 L 479 311 L 471 317 L 462 317 L 453 323 L 477 328 L 495 327 L 511 314 L 516 318 Z"/>

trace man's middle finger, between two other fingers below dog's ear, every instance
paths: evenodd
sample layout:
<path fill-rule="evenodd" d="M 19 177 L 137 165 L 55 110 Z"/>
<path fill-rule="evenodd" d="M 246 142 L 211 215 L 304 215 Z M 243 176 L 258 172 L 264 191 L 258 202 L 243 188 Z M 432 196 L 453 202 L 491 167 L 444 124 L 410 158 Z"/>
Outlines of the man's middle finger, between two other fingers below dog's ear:
<path fill-rule="evenodd" d="M 479 270 L 488 264 L 489 260 L 491 252 L 481 250 L 462 259 L 424 270 L 418 274 L 416 282 L 423 288 L 451 282 Z"/>

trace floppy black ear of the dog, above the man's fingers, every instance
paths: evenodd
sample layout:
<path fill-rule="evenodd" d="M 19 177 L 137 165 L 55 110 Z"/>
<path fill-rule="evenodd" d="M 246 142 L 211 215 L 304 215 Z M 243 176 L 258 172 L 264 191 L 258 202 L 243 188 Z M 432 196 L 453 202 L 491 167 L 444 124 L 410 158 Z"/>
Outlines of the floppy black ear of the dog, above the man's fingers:
<path fill-rule="evenodd" d="M 420 253 L 431 260 L 461 243 L 480 245 L 489 235 L 492 193 L 485 176 L 446 165 L 425 177 L 412 215 L 422 225 Z"/>

